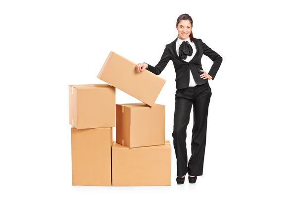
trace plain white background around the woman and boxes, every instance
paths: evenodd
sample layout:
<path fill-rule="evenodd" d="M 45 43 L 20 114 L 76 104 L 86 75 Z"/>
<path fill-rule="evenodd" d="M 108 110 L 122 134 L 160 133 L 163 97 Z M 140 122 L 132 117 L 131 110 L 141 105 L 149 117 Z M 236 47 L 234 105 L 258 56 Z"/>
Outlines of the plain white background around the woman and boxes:
<path fill-rule="evenodd" d="M 1 0 L 0 197 L 139 197 L 156 195 L 154 190 L 172 197 L 296 197 L 293 2 Z M 110 51 L 156 65 L 177 37 L 175 23 L 183 13 L 193 18 L 194 37 L 223 57 L 209 80 L 203 176 L 196 184 L 189 184 L 188 175 L 183 185 L 175 181 L 170 61 L 155 102 L 166 105 L 171 186 L 72 186 L 68 85 L 104 83 L 97 74 Z M 208 72 L 212 61 L 201 61 Z M 116 103 L 127 102 L 140 101 L 116 90 Z M 191 113 L 188 158 L 192 127 Z"/>

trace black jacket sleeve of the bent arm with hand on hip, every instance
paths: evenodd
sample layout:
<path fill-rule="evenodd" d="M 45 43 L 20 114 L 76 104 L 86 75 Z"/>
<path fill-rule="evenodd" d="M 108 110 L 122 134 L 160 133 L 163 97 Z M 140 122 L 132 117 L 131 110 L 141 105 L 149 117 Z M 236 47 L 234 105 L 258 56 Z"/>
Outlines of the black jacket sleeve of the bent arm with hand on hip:
<path fill-rule="evenodd" d="M 213 64 L 208 72 L 208 74 L 212 77 L 212 80 L 213 80 L 221 66 L 223 58 L 203 42 L 202 42 L 202 48 L 203 48 L 203 54 L 208 56 L 213 61 Z"/>

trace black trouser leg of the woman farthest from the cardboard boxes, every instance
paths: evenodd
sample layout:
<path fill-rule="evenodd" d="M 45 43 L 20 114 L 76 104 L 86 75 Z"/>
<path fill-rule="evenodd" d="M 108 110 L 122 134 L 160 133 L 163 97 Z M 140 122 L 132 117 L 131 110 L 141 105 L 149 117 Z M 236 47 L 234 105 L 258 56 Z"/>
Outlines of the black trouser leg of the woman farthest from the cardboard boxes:
<path fill-rule="evenodd" d="M 203 173 L 208 106 L 211 95 L 208 83 L 195 90 L 193 103 L 194 125 L 191 143 L 192 155 L 188 163 L 189 175 L 193 176 L 199 176 Z"/>

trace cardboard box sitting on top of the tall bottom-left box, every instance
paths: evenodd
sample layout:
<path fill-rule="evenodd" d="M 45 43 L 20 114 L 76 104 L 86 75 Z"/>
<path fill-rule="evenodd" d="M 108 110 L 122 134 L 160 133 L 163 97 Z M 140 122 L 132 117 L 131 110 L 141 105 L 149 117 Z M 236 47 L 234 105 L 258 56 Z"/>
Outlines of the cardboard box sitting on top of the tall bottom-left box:
<path fill-rule="evenodd" d="M 115 126 L 115 87 L 69 85 L 69 123 L 77 129 Z"/>

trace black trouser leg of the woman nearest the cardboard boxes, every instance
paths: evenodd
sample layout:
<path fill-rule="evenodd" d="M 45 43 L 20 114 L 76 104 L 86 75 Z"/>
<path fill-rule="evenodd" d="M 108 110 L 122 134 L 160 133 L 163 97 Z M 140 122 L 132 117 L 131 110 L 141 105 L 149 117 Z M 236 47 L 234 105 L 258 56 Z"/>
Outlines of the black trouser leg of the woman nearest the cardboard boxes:
<path fill-rule="evenodd" d="M 186 148 L 187 126 L 193 104 L 194 88 L 177 90 L 175 94 L 175 110 L 173 120 L 173 146 L 175 149 L 177 176 L 182 177 L 188 172 L 188 156 Z"/>

